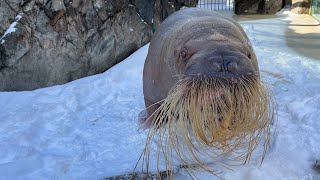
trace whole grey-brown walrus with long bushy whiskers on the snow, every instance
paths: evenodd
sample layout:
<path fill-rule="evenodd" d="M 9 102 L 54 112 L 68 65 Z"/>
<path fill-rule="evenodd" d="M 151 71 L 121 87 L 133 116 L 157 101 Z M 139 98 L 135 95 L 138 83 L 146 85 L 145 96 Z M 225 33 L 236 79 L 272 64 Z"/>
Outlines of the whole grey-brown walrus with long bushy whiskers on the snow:
<path fill-rule="evenodd" d="M 171 173 L 173 155 L 183 166 L 213 174 L 207 160 L 246 163 L 259 143 L 263 159 L 274 119 L 273 98 L 261 81 L 249 38 L 234 20 L 199 8 L 165 19 L 150 42 L 143 94 L 147 171 L 155 138 L 157 158 L 164 157 Z"/>

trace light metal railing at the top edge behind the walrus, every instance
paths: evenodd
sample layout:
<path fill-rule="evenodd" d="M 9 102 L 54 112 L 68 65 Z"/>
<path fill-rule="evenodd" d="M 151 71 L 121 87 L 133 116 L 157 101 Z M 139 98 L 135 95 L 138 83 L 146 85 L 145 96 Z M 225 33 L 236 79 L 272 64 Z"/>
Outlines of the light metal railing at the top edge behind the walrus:
<path fill-rule="evenodd" d="M 214 11 L 233 11 L 234 0 L 199 0 L 198 7 Z"/>

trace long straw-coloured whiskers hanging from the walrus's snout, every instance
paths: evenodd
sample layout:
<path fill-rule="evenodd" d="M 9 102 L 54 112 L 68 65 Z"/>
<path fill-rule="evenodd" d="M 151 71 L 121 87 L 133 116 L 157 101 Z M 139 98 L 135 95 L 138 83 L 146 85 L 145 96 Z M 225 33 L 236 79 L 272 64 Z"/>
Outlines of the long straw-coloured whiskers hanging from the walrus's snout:
<path fill-rule="evenodd" d="M 218 175 L 206 166 L 208 159 L 224 167 L 228 165 L 218 159 L 243 164 L 259 143 L 264 146 L 263 160 L 270 143 L 273 105 L 271 94 L 257 76 L 180 80 L 149 118 L 152 125 L 143 160 L 147 172 L 153 139 L 158 142 L 158 161 L 164 157 L 170 173 L 176 156 L 183 166 L 196 164 Z"/>

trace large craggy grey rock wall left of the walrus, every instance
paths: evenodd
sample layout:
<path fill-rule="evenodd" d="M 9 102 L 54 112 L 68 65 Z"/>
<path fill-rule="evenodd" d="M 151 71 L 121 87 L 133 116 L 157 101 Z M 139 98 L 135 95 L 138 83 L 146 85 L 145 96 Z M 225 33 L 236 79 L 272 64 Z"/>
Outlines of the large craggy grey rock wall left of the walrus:
<path fill-rule="evenodd" d="M 33 90 L 101 73 L 148 43 L 197 0 L 1 0 L 0 91 Z"/>

